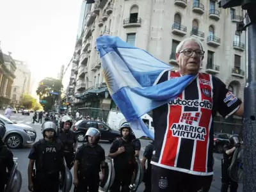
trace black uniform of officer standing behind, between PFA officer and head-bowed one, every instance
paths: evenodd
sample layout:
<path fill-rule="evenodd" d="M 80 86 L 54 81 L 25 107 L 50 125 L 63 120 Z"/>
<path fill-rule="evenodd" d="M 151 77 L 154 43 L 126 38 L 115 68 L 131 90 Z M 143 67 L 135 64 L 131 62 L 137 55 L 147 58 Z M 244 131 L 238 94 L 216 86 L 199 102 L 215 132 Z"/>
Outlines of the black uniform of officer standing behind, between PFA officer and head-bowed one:
<path fill-rule="evenodd" d="M 72 168 L 72 161 L 74 161 L 74 143 L 77 142 L 76 134 L 73 131 L 68 130 L 60 131 L 58 138 L 60 139 L 61 143 L 63 144 L 65 153 L 65 161 L 67 163 L 68 169 Z M 66 152 L 67 151 L 67 152 Z"/>

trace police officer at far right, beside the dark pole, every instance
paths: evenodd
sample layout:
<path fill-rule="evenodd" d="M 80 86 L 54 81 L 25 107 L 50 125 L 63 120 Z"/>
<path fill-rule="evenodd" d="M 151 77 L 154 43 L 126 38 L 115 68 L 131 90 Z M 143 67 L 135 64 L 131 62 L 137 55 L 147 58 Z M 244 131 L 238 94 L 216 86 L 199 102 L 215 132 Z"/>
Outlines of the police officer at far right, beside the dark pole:
<path fill-rule="evenodd" d="M 230 188 L 230 192 L 236 192 L 238 188 L 237 182 L 230 179 L 228 175 L 228 168 L 232 162 L 232 158 L 234 156 L 234 152 L 237 147 L 240 147 L 240 143 L 234 143 L 234 138 L 236 136 L 232 135 L 229 138 L 229 143 L 227 145 L 224 145 L 223 147 L 223 164 L 221 168 L 222 172 L 222 179 L 221 179 L 221 192 L 227 192 L 228 186 Z"/>

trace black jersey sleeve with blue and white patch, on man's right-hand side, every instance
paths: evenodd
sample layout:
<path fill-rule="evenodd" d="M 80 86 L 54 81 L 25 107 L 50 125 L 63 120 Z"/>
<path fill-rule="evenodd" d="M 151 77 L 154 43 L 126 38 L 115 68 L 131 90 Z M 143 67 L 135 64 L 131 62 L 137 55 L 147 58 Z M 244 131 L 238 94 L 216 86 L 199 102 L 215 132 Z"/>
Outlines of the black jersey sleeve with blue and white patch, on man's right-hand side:
<path fill-rule="evenodd" d="M 220 81 L 217 77 L 216 90 L 218 90 L 218 98 L 217 98 L 217 111 L 222 115 L 224 118 L 228 118 L 228 116 L 233 115 L 237 109 L 239 109 L 240 104 L 242 101 L 238 99 L 232 92 L 229 92 L 226 88 L 226 85 Z"/>

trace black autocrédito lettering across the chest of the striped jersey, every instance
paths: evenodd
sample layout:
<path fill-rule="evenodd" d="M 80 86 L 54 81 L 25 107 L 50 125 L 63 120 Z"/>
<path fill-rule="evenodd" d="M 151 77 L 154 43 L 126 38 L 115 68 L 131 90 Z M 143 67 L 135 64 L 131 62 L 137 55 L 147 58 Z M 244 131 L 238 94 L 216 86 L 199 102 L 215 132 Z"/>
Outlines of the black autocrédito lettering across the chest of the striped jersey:
<path fill-rule="evenodd" d="M 176 106 L 188 106 L 191 108 L 205 108 L 205 109 L 212 109 L 212 103 L 209 100 L 182 100 L 180 98 L 174 99 L 169 102 L 170 105 Z"/>

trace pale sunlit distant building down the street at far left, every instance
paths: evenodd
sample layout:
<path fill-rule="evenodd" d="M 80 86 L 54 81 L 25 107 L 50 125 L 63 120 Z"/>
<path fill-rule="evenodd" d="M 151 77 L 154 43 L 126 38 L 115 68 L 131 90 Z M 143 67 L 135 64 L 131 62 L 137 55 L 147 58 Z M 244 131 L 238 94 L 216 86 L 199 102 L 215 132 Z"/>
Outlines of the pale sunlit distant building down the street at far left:
<path fill-rule="evenodd" d="M 17 70 L 15 71 L 15 79 L 12 86 L 12 106 L 20 106 L 22 94 L 29 94 L 31 84 L 31 72 L 26 62 L 14 60 Z"/>

